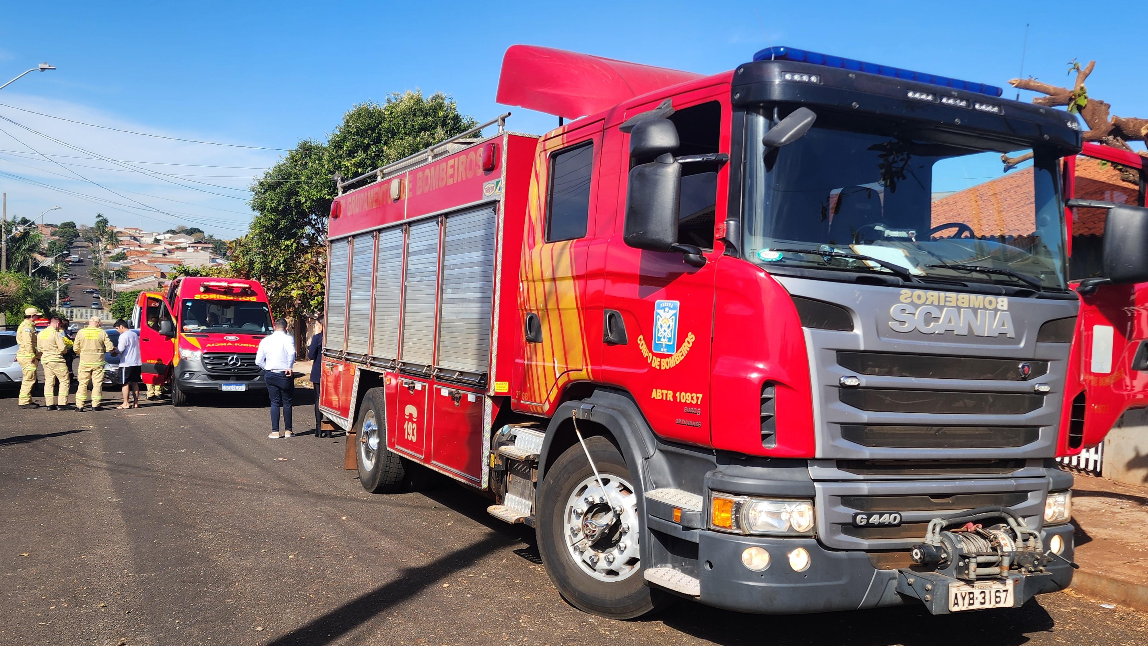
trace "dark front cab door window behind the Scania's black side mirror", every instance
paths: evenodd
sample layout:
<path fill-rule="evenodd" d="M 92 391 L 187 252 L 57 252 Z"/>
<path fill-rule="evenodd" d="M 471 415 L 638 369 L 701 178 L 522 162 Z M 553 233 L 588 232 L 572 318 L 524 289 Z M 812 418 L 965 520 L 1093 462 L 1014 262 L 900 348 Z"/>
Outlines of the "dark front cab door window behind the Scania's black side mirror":
<path fill-rule="evenodd" d="M 676 156 L 718 153 L 721 137 L 721 103 L 709 101 L 670 115 L 682 145 Z M 714 246 L 714 212 L 718 205 L 718 163 L 682 165 L 682 202 L 677 210 L 677 241 L 703 249 Z"/>

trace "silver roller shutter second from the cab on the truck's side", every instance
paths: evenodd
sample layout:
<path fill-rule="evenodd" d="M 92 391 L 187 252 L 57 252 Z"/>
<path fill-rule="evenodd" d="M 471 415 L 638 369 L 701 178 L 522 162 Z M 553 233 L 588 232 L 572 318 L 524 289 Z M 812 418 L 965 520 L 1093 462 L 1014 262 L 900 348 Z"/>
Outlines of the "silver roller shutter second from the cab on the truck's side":
<path fill-rule="evenodd" d="M 439 221 L 411 225 L 406 243 L 406 289 L 403 303 L 404 364 L 434 361 L 434 314 L 439 296 Z"/>

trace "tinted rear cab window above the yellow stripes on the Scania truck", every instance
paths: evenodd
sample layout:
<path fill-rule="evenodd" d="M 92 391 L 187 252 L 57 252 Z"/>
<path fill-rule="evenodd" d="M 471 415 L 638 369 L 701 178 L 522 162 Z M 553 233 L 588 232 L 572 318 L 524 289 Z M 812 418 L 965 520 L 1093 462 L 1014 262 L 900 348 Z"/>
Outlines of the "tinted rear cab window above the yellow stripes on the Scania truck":
<path fill-rule="evenodd" d="M 590 142 L 550 157 L 550 190 L 546 195 L 546 242 L 575 240 L 585 235 L 590 218 Z"/>

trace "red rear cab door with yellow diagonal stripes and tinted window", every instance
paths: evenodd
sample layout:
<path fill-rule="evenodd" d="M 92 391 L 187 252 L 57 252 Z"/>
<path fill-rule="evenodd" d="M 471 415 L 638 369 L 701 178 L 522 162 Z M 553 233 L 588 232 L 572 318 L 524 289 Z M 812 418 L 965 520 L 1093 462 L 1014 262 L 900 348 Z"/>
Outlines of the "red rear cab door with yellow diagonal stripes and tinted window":
<path fill-rule="evenodd" d="M 597 120 L 538 143 L 519 274 L 522 379 L 515 405 L 546 413 L 563 387 L 591 379 L 602 347 L 605 238 L 594 235 L 602 162 Z"/>

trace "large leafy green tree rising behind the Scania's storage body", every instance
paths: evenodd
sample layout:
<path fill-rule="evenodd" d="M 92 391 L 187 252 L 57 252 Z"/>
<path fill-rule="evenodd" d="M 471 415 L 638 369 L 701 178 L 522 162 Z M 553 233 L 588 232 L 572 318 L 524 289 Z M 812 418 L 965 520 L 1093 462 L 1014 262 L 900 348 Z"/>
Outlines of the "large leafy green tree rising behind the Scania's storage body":
<path fill-rule="evenodd" d="M 323 310 L 332 174 L 355 177 L 478 125 L 442 93 L 389 94 L 343 115 L 327 142 L 305 139 L 251 187 L 256 216 L 234 242 L 230 272 L 259 280 L 277 316 Z"/>

